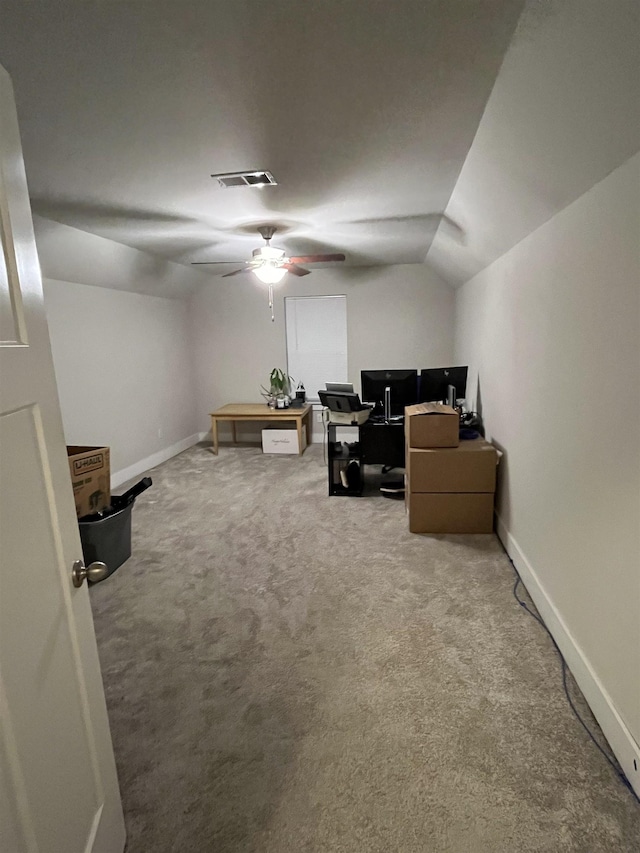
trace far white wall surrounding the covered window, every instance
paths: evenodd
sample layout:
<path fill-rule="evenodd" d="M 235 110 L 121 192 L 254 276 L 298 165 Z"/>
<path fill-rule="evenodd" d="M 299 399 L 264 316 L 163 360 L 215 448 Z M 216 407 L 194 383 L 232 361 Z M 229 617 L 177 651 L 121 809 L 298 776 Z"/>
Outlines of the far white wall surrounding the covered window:
<path fill-rule="evenodd" d="M 276 291 L 274 323 L 255 276 L 217 278 L 190 300 L 198 429 L 208 430 L 209 412 L 225 403 L 261 402 L 271 369 L 286 367 L 285 296 L 336 293 L 347 296 L 349 380 L 356 387 L 362 369 L 450 364 L 455 295 L 422 264 L 287 276 Z M 255 430 L 248 434 L 259 439 Z"/>

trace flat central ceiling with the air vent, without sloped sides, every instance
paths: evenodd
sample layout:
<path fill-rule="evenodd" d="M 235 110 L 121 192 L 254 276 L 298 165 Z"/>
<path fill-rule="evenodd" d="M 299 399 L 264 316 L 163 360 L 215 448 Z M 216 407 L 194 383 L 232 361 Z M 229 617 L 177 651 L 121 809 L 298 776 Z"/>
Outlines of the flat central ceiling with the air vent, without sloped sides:
<path fill-rule="evenodd" d="M 289 254 L 421 263 L 522 5 L 5 0 L 34 212 L 185 264 L 264 223 Z M 210 178 L 254 168 L 279 185 Z"/>

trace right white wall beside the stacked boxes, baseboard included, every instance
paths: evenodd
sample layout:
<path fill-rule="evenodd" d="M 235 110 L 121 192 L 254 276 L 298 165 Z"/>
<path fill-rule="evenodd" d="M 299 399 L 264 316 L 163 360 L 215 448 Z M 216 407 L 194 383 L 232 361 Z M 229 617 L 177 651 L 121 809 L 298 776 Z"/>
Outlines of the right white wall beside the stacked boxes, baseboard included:
<path fill-rule="evenodd" d="M 501 538 L 636 790 L 640 155 L 458 293 L 456 360 L 505 452 Z"/>

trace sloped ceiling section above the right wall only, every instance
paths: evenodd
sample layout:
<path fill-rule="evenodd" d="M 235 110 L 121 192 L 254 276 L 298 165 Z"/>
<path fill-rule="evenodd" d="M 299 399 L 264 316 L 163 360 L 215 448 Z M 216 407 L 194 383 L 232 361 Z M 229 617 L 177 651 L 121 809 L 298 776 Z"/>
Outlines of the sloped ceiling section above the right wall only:
<path fill-rule="evenodd" d="M 640 3 L 529 3 L 427 261 L 467 281 L 638 150 Z"/>

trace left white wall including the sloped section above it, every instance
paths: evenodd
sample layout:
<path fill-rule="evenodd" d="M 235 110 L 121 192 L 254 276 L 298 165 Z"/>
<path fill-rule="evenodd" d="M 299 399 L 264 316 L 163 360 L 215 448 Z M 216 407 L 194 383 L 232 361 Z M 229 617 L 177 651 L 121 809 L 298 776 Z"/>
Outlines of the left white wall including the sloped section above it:
<path fill-rule="evenodd" d="M 112 487 L 197 440 L 186 297 L 210 278 L 34 217 L 67 444 L 111 448 Z"/>

